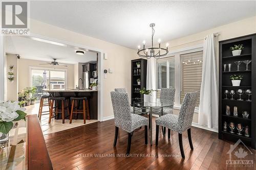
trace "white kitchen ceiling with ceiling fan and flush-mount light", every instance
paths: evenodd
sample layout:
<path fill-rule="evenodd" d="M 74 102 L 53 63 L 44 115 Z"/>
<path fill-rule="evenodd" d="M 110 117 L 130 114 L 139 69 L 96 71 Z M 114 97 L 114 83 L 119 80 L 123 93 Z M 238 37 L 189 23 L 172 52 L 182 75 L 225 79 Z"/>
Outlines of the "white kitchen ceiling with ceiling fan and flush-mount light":
<path fill-rule="evenodd" d="M 74 46 L 60 46 L 51 43 L 30 39 L 29 37 L 6 36 L 6 53 L 19 54 L 20 58 L 53 61 L 57 59 L 59 63 L 76 64 L 89 61 L 97 61 L 97 54 L 86 52 L 84 55 L 77 55 Z"/>

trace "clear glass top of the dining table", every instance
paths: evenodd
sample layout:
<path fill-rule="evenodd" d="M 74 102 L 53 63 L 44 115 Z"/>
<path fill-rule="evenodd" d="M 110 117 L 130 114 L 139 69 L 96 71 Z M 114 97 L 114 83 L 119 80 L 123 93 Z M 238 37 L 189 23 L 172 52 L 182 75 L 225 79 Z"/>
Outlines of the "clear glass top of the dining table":
<path fill-rule="evenodd" d="M 150 99 L 150 101 L 144 101 L 142 98 L 132 99 L 132 104 L 135 107 L 173 107 L 174 103 L 169 100 L 162 99 Z"/>

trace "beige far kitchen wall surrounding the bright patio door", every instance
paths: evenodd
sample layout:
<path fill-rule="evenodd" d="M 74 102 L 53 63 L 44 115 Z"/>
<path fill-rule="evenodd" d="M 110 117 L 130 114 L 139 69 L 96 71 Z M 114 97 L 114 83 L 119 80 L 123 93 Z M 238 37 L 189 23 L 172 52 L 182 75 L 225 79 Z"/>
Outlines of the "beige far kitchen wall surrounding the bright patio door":
<path fill-rule="evenodd" d="M 28 59 L 18 59 L 18 90 L 22 90 L 26 87 L 29 87 L 29 67 L 41 67 L 41 68 L 52 68 L 51 65 L 40 65 L 39 63 L 44 63 L 45 61 L 38 61 L 38 60 L 28 60 Z M 55 66 L 55 68 L 60 69 L 67 69 L 67 88 L 74 87 L 74 65 L 73 64 L 66 64 L 67 67 L 63 66 Z"/>

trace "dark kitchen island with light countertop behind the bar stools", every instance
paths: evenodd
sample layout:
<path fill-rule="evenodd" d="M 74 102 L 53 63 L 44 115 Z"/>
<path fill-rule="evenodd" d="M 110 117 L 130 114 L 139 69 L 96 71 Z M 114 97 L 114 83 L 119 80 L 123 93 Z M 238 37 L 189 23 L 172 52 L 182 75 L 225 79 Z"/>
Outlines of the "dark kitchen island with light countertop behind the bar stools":
<path fill-rule="evenodd" d="M 90 89 L 43 89 L 50 93 L 53 97 L 87 97 L 89 100 L 89 110 L 91 119 L 98 119 L 98 91 Z M 82 107 L 82 102 L 78 104 Z M 60 106 L 60 104 L 59 104 Z M 70 106 L 71 109 L 71 106 Z M 68 112 L 65 112 L 65 117 L 69 119 Z M 57 119 L 61 119 L 61 114 L 58 114 Z M 82 114 L 77 114 L 78 119 L 83 119 Z"/>

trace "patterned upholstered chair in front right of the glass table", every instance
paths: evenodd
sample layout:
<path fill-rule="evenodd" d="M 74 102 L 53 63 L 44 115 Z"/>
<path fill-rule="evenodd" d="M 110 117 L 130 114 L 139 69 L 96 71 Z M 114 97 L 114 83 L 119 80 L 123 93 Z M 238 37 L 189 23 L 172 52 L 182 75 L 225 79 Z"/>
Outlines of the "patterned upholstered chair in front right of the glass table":
<path fill-rule="evenodd" d="M 158 145 L 159 126 L 163 126 L 168 129 L 168 138 L 170 138 L 170 130 L 179 133 L 179 144 L 180 144 L 180 152 L 181 152 L 182 158 L 185 158 L 183 144 L 182 144 L 182 133 L 186 130 L 187 130 L 190 149 L 191 150 L 194 149 L 192 139 L 191 139 L 190 127 L 192 124 L 192 119 L 193 119 L 198 97 L 199 97 L 199 92 L 186 93 L 181 105 L 179 115 L 166 114 L 156 119 L 156 145 Z"/>

